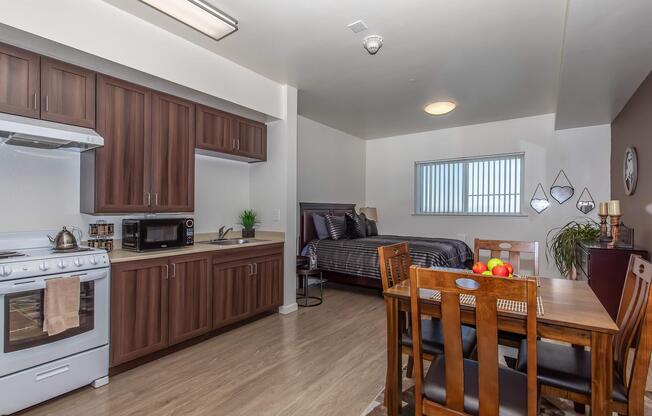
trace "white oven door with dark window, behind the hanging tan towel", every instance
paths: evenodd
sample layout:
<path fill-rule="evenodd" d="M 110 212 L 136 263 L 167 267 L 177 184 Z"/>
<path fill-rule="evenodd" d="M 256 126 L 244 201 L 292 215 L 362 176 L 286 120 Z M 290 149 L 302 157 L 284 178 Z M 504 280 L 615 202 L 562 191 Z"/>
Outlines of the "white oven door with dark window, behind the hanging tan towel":
<path fill-rule="evenodd" d="M 79 327 L 55 336 L 43 331 L 45 280 L 80 277 Z M 106 345 L 109 269 L 0 282 L 0 377 Z"/>

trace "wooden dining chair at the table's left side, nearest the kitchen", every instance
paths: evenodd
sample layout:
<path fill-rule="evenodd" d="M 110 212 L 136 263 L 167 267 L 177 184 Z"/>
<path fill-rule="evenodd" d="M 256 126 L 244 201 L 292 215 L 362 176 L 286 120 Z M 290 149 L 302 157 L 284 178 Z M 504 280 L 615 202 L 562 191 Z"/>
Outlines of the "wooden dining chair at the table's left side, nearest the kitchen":
<path fill-rule="evenodd" d="M 392 244 L 378 247 L 378 263 L 383 290 L 401 283 L 410 277 L 410 257 L 408 243 Z M 406 319 L 407 329 L 401 335 L 401 345 L 404 354 L 408 355 L 407 376 L 412 377 L 414 360 L 412 359 L 412 332 L 410 331 L 409 315 Z M 444 352 L 443 327 L 439 319 L 424 319 L 421 325 L 423 334 L 423 356 L 432 361 L 434 357 Z M 473 353 L 476 343 L 475 329 L 468 326 L 462 328 L 462 350 L 464 356 Z"/>

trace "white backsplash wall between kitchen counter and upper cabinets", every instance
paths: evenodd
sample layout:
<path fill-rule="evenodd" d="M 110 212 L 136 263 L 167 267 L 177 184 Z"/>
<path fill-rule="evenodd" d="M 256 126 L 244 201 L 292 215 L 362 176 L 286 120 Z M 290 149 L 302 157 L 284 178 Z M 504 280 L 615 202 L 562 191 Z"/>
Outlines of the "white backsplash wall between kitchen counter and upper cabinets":
<path fill-rule="evenodd" d="M 79 212 L 79 154 L 0 145 L 0 195 L 6 195 L 0 231 L 54 230 L 113 222 L 120 238 L 121 216 L 99 217 Z M 238 212 L 249 207 L 249 165 L 206 156 L 195 162 L 195 227 L 198 233 L 234 226 Z M 160 214 L 170 216 L 170 214 Z M 142 216 L 142 215 L 141 215 Z M 137 216 L 131 216 L 137 217 Z"/>

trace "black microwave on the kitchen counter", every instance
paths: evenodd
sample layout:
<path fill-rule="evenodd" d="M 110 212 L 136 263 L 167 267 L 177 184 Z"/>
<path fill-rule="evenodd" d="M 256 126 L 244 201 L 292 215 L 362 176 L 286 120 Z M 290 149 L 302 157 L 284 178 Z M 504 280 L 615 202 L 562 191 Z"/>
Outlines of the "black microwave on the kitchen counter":
<path fill-rule="evenodd" d="M 161 250 L 195 243 L 192 218 L 140 218 L 122 220 L 122 248 L 131 251 Z"/>

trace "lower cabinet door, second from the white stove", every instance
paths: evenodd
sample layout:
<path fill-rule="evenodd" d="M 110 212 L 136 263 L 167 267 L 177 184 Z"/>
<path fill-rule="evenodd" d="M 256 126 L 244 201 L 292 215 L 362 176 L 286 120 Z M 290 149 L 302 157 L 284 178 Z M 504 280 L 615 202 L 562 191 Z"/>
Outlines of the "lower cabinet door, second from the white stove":
<path fill-rule="evenodd" d="M 170 345 L 211 330 L 210 256 L 170 258 Z"/>

